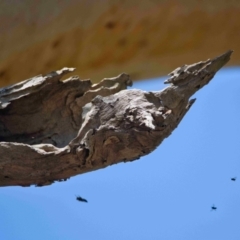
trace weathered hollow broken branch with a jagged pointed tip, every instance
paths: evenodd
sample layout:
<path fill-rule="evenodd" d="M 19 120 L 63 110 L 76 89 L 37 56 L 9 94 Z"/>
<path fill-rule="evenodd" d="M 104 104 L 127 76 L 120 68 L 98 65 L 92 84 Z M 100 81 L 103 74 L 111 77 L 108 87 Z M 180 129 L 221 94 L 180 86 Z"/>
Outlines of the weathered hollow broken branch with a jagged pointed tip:
<path fill-rule="evenodd" d="M 0 186 L 49 185 L 152 152 L 231 54 L 177 68 L 156 92 L 125 90 L 125 73 L 60 81 L 70 68 L 1 89 Z"/>

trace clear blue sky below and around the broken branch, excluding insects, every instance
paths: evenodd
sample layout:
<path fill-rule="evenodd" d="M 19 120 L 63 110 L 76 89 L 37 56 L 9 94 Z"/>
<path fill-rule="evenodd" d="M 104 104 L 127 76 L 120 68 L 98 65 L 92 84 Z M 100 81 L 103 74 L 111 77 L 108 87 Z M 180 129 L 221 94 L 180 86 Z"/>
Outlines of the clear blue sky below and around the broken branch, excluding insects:
<path fill-rule="evenodd" d="M 239 240 L 239 76 L 239 67 L 219 71 L 172 135 L 140 160 L 47 187 L 0 188 L 0 239 Z M 133 87 L 166 85 L 158 78 Z"/>

